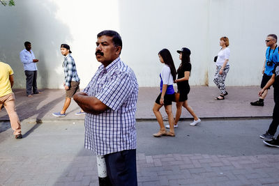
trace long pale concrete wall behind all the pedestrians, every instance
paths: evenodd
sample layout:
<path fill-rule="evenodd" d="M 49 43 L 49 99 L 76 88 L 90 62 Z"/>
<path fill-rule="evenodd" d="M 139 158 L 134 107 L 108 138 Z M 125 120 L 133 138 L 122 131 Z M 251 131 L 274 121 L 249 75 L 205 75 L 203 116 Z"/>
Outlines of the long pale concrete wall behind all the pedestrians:
<path fill-rule="evenodd" d="M 84 88 L 100 65 L 94 52 L 96 34 L 118 31 L 123 40 L 121 59 L 130 65 L 140 86 L 158 86 L 160 49 L 192 51 L 190 85 L 214 86 L 213 56 L 219 38 L 230 41 L 231 69 L 227 86 L 259 85 L 266 35 L 278 33 L 276 0 L 16 0 L 0 6 L 0 61 L 15 71 L 15 88 L 25 87 L 19 53 L 32 43 L 38 63 L 39 88 L 63 88 L 61 43 L 68 43 Z"/>

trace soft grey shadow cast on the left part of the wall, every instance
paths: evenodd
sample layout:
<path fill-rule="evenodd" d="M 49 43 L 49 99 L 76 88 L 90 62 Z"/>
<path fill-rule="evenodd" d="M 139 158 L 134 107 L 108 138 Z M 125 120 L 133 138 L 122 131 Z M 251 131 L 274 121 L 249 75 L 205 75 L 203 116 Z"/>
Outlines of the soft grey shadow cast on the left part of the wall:
<path fill-rule="evenodd" d="M 38 88 L 59 88 L 63 81 L 63 58 L 60 45 L 72 39 L 69 28 L 56 19 L 54 1 L 24 0 L 15 6 L 0 6 L 0 61 L 10 64 L 15 72 L 15 88 L 25 88 L 25 75 L 20 61 L 24 42 L 30 41 L 39 62 Z M 57 81 L 61 79 L 61 81 Z"/>

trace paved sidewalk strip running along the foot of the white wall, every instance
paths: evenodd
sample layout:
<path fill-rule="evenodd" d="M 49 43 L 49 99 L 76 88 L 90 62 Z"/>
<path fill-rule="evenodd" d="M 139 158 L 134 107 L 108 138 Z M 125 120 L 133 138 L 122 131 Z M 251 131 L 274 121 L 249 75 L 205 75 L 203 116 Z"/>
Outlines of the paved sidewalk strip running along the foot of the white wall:
<path fill-rule="evenodd" d="M 78 105 L 72 101 L 66 117 L 56 118 L 53 112 L 61 111 L 65 99 L 65 93 L 61 89 L 43 89 L 43 93 L 27 98 L 23 89 L 15 89 L 17 114 L 20 120 L 31 121 L 48 120 L 72 120 L 83 119 L 84 116 L 75 116 L 80 111 Z M 257 100 L 258 86 L 234 86 L 227 87 L 229 95 L 225 100 L 214 100 L 219 93 L 216 87 L 191 86 L 188 102 L 200 118 L 240 118 L 240 117 L 270 117 L 274 107 L 273 88 L 269 91 L 264 107 L 254 107 L 251 101 Z M 158 96 L 159 88 L 140 88 L 137 102 L 137 120 L 155 119 L 152 111 L 153 104 Z M 175 113 L 175 104 L 172 104 Z M 163 117 L 167 117 L 164 109 Z M 181 118 L 192 118 L 186 109 L 183 109 Z M 0 111 L 0 121 L 8 121 L 8 115 L 3 109 Z"/>

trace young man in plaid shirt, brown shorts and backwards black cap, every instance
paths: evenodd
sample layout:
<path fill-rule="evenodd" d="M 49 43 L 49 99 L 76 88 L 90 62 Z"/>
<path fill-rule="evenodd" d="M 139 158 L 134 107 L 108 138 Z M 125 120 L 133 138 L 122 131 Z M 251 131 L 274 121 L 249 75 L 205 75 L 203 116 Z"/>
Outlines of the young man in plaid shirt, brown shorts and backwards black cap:
<path fill-rule="evenodd" d="M 63 86 L 66 90 L 66 100 L 64 102 L 63 109 L 59 112 L 52 113 L 52 115 L 56 117 L 65 117 L 66 110 L 70 106 L 71 98 L 73 98 L 75 93 L 80 91 L 80 77 L 78 77 L 77 75 L 75 60 L 70 55 L 72 53 L 70 51 L 70 46 L 67 44 L 62 44 L 60 50 L 61 50 L 61 54 L 64 56 L 62 67 L 65 75 L 65 82 Z M 84 111 L 80 111 L 76 113 L 76 115 L 82 115 L 82 114 L 85 114 Z"/>

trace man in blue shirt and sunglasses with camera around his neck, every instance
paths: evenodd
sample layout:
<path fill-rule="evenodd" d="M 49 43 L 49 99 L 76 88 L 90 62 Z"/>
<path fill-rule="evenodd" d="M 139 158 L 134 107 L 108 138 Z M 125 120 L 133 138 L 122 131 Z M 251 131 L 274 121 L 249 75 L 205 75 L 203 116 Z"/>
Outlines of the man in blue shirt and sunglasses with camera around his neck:
<path fill-rule="evenodd" d="M 264 66 L 262 68 L 262 83 L 261 88 L 264 88 L 269 79 L 272 76 L 272 70 L 276 63 L 278 63 L 279 55 L 278 55 L 278 47 L 277 47 L 277 36 L 275 34 L 269 34 L 266 40 L 266 59 L 264 60 Z M 269 88 L 266 88 L 264 93 L 259 96 L 259 100 L 255 102 L 250 102 L 253 106 L 264 106 L 264 98 L 266 98 L 267 92 Z"/>

